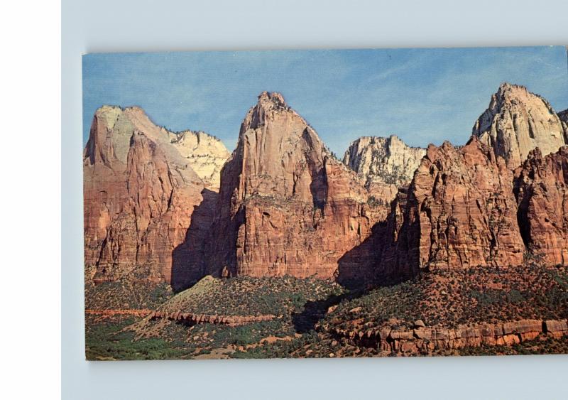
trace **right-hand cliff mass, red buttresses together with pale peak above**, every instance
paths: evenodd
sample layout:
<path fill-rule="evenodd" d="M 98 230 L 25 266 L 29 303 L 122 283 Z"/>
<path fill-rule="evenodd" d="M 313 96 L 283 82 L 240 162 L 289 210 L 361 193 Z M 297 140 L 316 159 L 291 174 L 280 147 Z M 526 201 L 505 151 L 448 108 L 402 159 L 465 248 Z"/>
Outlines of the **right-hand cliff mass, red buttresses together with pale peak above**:
<path fill-rule="evenodd" d="M 466 146 L 429 146 L 393 202 L 377 270 L 520 265 L 528 253 L 565 264 L 563 118 L 525 87 L 501 85 Z"/>

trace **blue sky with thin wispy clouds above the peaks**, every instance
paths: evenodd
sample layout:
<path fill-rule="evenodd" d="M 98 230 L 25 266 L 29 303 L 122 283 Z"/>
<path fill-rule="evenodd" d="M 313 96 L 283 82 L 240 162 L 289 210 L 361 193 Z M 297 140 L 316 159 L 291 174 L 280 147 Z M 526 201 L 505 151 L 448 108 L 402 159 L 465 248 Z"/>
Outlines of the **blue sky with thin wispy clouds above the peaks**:
<path fill-rule="evenodd" d="M 207 131 L 232 151 L 267 90 L 340 156 L 359 136 L 464 144 L 501 82 L 567 109 L 565 48 L 93 53 L 83 57 L 83 141 L 98 107 L 137 105 L 156 124 Z"/>

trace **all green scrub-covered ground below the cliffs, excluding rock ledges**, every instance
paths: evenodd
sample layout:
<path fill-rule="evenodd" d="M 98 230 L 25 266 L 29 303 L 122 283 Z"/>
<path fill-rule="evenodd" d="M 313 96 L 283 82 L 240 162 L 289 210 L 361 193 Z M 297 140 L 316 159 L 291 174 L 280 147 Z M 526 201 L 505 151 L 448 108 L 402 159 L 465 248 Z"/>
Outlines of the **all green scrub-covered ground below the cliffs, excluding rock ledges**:
<path fill-rule="evenodd" d="M 421 319 L 429 326 L 454 328 L 469 323 L 497 323 L 523 318 L 568 318 L 565 267 L 534 264 L 507 268 L 438 269 L 415 279 L 370 291 L 348 291 L 337 283 L 292 277 L 214 279 L 207 276 L 173 296 L 155 286 L 146 296 L 132 296 L 122 283 L 89 287 L 87 304 L 209 315 L 275 315 L 275 319 L 231 327 L 186 325 L 182 321 L 87 315 L 89 360 L 160 360 L 217 355 L 224 357 L 361 357 L 378 350 L 356 347 L 329 328 L 410 328 Z M 109 306 L 107 296 L 112 298 Z M 270 340 L 266 340 L 269 338 Z M 471 347 L 452 354 L 532 354 L 568 352 L 567 338 L 542 337 L 513 347 Z M 449 350 L 448 350 L 449 351 Z M 440 350 L 440 352 L 443 352 Z M 440 355 L 442 353 L 438 352 Z M 382 353 L 381 353 L 382 354 Z M 445 354 L 445 353 L 444 353 Z"/>

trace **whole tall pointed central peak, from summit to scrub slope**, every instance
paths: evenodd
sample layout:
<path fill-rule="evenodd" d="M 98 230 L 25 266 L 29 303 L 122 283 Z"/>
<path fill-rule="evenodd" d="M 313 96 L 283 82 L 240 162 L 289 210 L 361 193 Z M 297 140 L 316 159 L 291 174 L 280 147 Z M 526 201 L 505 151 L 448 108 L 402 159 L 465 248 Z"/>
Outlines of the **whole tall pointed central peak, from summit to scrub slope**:
<path fill-rule="evenodd" d="M 371 265 L 361 247 L 386 209 L 368 205 L 353 171 L 278 93 L 249 110 L 221 173 L 209 271 L 340 279 Z"/>

